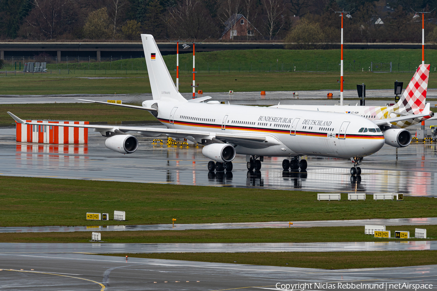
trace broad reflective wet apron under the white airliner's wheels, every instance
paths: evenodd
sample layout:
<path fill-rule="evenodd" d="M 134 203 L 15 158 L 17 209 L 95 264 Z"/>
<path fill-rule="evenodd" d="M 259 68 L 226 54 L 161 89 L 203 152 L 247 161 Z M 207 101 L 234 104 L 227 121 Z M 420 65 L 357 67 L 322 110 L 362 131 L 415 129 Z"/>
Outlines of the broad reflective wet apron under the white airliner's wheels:
<path fill-rule="evenodd" d="M 436 144 L 386 145 L 364 158 L 362 174 L 355 177 L 350 161 L 319 157 L 307 157 L 303 172 L 283 171 L 282 159 L 275 157 L 265 157 L 261 171 L 248 171 L 245 156 L 237 155 L 232 172 L 211 173 L 201 147 L 138 140 L 134 154 L 121 155 L 92 131 L 88 145 L 44 145 L 17 143 L 14 128 L 0 128 L 0 175 L 437 197 Z"/>

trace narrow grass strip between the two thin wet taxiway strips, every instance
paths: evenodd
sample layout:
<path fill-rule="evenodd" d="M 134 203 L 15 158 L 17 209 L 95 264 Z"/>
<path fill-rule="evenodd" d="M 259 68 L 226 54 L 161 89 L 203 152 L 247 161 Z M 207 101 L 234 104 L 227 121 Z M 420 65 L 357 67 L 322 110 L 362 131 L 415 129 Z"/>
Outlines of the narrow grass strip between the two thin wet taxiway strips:
<path fill-rule="evenodd" d="M 176 221 L 177 222 L 177 221 Z M 96 222 L 95 222 L 96 223 Z M 99 222 L 100 223 L 100 222 Z M 403 239 L 380 239 L 364 234 L 363 226 L 251 229 L 207 229 L 207 230 L 159 231 L 102 231 L 104 242 L 113 243 L 266 243 L 266 242 L 403 242 Z M 428 239 L 415 239 L 415 228 L 426 228 Z M 437 239 L 437 226 L 386 226 L 394 236 L 395 230 L 409 231 L 413 237 L 408 241 L 432 241 Z M 2 233 L 0 242 L 88 242 L 88 232 Z M 437 259 L 437 258 L 436 258 Z"/>

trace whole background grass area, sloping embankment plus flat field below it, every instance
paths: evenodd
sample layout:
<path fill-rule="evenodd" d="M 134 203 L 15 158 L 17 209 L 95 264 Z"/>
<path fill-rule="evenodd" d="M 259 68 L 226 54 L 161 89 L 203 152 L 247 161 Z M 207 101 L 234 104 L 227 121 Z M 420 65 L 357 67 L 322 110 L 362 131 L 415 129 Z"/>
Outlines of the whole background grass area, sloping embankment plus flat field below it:
<path fill-rule="evenodd" d="M 429 87 L 437 87 L 433 78 L 437 55 L 425 54 L 431 64 Z M 368 89 L 391 89 L 395 80 L 404 87 L 420 64 L 419 49 L 346 49 L 344 52 L 344 89 L 356 89 L 365 83 Z M 176 56 L 164 56 L 175 81 Z M 369 72 L 373 62 L 373 73 Z M 392 63 L 392 73 L 389 71 Z M 196 54 L 196 83 L 204 92 L 339 90 L 339 51 L 253 49 L 200 52 Z M 6 64 L 14 70 L 15 64 Z M 2 94 L 128 94 L 151 93 L 145 60 L 125 59 L 113 62 L 48 64 L 44 74 L 9 72 L 1 78 Z M 68 67 L 68 69 L 67 69 Z M 296 69 L 295 69 L 296 67 Z M 180 91 L 192 92 L 192 55 L 180 55 Z M 2 76 L 4 76 L 2 74 Z M 85 78 L 84 78 L 85 77 Z M 101 77 L 104 79 L 92 79 Z"/>

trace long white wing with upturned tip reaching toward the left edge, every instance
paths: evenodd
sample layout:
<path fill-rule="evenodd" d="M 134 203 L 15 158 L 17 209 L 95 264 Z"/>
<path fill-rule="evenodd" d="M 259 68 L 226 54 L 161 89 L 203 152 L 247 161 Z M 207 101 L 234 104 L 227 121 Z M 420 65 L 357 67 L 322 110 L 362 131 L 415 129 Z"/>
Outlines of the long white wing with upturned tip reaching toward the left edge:
<path fill-rule="evenodd" d="M 221 133 L 214 131 L 200 131 L 200 130 L 187 130 L 187 129 L 168 129 L 168 128 L 153 128 L 153 127 L 140 127 L 140 126 L 109 126 L 109 125 L 94 125 L 94 124 L 47 124 L 41 122 L 27 122 L 22 120 L 13 113 L 8 112 L 8 114 L 14 118 L 17 123 L 29 124 L 29 125 L 53 125 L 53 126 L 63 126 L 63 127 L 77 127 L 77 128 L 87 128 L 94 129 L 94 131 L 99 131 L 102 134 L 106 131 L 114 132 L 120 130 L 122 132 L 136 131 L 138 133 L 163 133 L 163 134 L 174 134 L 181 136 L 193 136 L 206 139 L 218 139 L 220 141 L 228 141 L 235 144 L 242 144 L 247 142 L 257 142 L 262 143 L 264 147 L 279 145 L 280 143 L 273 137 L 263 134 L 244 134 L 244 133 Z M 105 135 L 105 134 L 103 134 Z"/>

